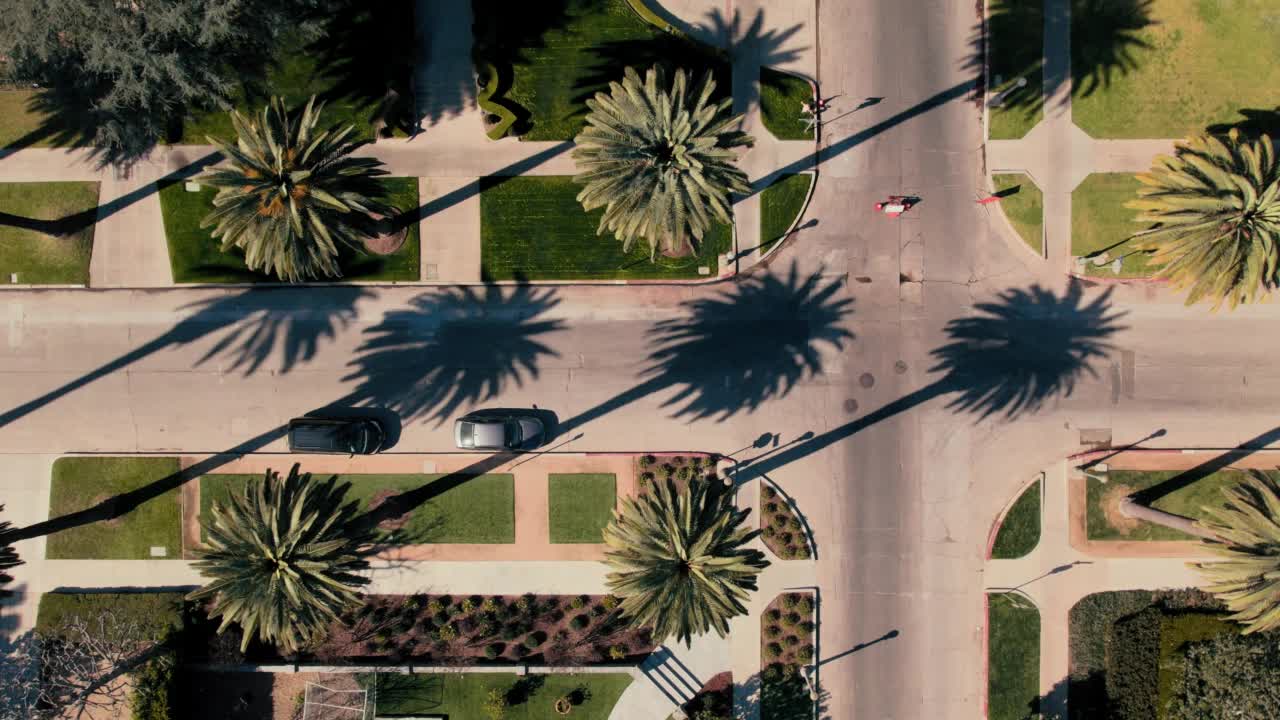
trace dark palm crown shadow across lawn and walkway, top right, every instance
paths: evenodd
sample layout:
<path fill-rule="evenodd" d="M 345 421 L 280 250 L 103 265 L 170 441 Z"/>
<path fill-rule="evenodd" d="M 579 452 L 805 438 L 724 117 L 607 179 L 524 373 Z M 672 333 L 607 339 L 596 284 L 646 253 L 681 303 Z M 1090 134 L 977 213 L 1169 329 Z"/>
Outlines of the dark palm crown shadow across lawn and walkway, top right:
<path fill-rule="evenodd" d="M 993 0 L 987 22 L 979 22 L 969 36 L 965 68 L 974 73 L 979 92 L 988 64 L 993 81 L 1037 79 L 1043 73 L 1041 82 L 1004 88 L 1004 106 L 1027 113 L 1038 111 L 1043 99 L 1066 82 L 1068 72 L 1071 95 L 1088 97 L 1110 87 L 1115 76 L 1135 70 L 1142 51 L 1152 49 L 1142 37 L 1142 31 L 1155 24 L 1151 8 L 1152 0 L 1071 0 L 1068 19 L 1061 14 L 1046 17 L 1041 0 Z M 1041 28 L 1070 33 L 1069 70 L 1057 61 L 1046 64 L 1038 42 Z"/>

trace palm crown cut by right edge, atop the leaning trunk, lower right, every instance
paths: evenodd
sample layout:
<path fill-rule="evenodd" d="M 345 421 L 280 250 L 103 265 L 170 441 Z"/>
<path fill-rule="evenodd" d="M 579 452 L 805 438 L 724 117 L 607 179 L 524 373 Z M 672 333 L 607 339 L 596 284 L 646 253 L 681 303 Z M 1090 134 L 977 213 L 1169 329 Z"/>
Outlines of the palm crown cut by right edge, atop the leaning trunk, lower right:
<path fill-rule="evenodd" d="M 1260 470 L 1249 475 L 1225 488 L 1226 503 L 1206 507 L 1199 521 L 1217 536 L 1206 543 L 1225 560 L 1194 564 L 1244 633 L 1280 628 L 1280 487 Z"/>

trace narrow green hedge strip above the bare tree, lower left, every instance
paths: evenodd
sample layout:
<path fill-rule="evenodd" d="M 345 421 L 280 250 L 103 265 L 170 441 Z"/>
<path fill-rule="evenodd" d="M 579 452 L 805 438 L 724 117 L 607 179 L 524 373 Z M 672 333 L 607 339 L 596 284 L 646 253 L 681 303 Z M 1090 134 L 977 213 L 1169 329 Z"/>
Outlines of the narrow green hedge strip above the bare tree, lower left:
<path fill-rule="evenodd" d="M 152 638 L 182 628 L 183 593 L 180 592 L 61 592 L 40 596 L 36 629 L 55 634 L 79 618 L 93 623 L 110 612 L 123 623 L 137 623 Z"/>

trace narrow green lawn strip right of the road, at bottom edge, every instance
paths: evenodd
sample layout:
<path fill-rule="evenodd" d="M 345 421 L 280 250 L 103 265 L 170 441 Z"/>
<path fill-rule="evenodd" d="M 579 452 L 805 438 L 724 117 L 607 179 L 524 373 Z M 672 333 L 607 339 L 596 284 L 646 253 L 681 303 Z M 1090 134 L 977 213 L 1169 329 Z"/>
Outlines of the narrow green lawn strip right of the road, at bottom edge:
<path fill-rule="evenodd" d="M 987 594 L 987 717 L 1039 710 L 1039 610 L 1015 593 Z"/>

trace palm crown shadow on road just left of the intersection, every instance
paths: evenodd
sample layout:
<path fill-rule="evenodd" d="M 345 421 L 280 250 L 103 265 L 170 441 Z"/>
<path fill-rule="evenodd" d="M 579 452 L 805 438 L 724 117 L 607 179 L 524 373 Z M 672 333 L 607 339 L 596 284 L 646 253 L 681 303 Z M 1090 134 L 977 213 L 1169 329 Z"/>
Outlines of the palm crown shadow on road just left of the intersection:
<path fill-rule="evenodd" d="M 685 305 L 687 315 L 658 323 L 649 336 L 649 380 L 677 388 L 663 407 L 677 418 L 724 420 L 783 397 L 800 380 L 820 375 L 822 350 L 844 350 L 854 333 L 841 327 L 852 299 L 837 279 L 760 274 L 732 290 Z"/>

